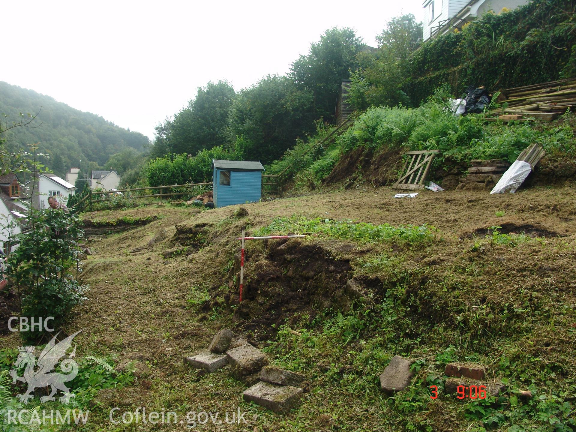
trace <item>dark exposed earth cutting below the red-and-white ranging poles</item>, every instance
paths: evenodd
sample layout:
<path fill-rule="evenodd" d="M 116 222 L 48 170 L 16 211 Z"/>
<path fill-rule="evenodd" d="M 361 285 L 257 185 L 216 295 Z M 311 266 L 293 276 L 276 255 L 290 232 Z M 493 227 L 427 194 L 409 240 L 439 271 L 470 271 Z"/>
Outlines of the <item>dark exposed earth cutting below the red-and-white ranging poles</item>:
<path fill-rule="evenodd" d="M 264 253 L 247 255 L 245 290 L 233 321 L 256 340 L 273 337 L 282 324 L 310 324 L 325 309 L 346 311 L 354 300 L 385 293 L 378 279 L 353 278 L 349 257 L 298 240 L 270 241 Z M 239 258 L 239 257 L 237 257 Z M 239 262 L 232 272 L 239 270 Z M 228 304 L 237 296 L 226 295 Z"/>

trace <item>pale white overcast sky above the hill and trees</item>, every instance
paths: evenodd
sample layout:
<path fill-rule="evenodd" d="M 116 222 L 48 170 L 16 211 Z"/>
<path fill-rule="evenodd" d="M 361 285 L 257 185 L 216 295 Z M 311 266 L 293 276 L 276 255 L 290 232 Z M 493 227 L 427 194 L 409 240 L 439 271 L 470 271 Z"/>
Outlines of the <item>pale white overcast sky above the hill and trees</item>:
<path fill-rule="evenodd" d="M 208 81 L 236 90 L 286 74 L 325 29 L 352 27 L 371 46 L 422 0 L 3 2 L 0 81 L 47 94 L 142 132 L 180 111 Z"/>

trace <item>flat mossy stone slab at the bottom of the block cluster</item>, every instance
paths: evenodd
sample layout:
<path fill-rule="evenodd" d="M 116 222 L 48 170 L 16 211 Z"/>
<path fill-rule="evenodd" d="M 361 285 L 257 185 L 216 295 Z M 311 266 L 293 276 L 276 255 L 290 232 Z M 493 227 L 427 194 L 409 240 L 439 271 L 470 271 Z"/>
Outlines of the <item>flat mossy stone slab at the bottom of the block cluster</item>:
<path fill-rule="evenodd" d="M 290 385 L 276 385 L 260 381 L 244 391 L 245 401 L 255 402 L 276 413 L 286 413 L 300 405 L 304 392 Z"/>

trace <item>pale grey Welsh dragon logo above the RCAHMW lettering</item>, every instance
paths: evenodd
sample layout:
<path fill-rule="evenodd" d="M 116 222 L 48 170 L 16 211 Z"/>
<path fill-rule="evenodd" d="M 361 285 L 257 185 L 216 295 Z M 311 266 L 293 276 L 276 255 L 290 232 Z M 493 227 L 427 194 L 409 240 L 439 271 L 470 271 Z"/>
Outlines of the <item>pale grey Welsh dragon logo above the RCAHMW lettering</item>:
<path fill-rule="evenodd" d="M 81 331 L 82 330 L 75 332 L 73 335 L 70 335 L 66 339 L 56 343 L 56 338 L 59 335 L 58 332 L 58 334 L 52 338 L 40 353 L 37 364 L 36 356 L 33 354 L 34 348 L 36 348 L 35 346 L 18 348 L 20 354 L 18 354 L 18 358 L 16 359 L 15 369 L 10 371 L 10 376 L 12 377 L 13 383 L 16 381 L 28 383 L 28 390 L 26 390 L 26 393 L 17 395 L 20 401 L 28 403 L 28 400 L 34 397 L 32 393 L 36 388 L 48 386 L 51 387 L 50 395 L 41 397 L 41 402 L 56 400 L 54 395 L 59 390 L 64 392 L 64 396 L 61 396 L 58 399 L 62 403 L 68 403 L 70 398 L 75 396 L 70 393 L 70 389 L 67 388 L 64 383 L 73 380 L 78 374 L 78 363 L 73 360 L 76 353 L 76 347 L 74 347 L 74 350 L 67 358 L 60 362 L 60 370 L 62 370 L 63 373 L 52 372 L 52 369 L 56 367 L 60 358 L 67 355 L 66 351 L 72 346 L 72 340 Z M 25 366 L 24 376 L 19 377 L 17 369 L 21 366 Z M 38 368 L 35 370 L 36 366 L 38 366 Z"/>

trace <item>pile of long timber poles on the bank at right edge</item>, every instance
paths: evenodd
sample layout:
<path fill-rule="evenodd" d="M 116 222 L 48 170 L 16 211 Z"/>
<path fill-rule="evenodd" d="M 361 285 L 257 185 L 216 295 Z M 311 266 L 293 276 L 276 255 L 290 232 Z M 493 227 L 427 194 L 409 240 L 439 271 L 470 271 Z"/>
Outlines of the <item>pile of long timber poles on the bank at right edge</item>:
<path fill-rule="evenodd" d="M 499 114 L 501 120 L 554 120 L 576 107 L 576 78 L 504 89 L 498 103 L 506 104 L 506 108 L 494 109 L 490 113 Z"/>

